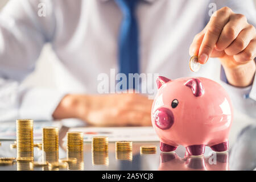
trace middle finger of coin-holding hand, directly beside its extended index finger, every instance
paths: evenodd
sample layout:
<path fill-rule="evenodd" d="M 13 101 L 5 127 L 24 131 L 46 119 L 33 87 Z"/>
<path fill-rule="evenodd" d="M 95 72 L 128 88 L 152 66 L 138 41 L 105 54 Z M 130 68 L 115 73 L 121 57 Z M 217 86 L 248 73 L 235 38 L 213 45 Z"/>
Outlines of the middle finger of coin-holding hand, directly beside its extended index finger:
<path fill-rule="evenodd" d="M 229 22 L 224 26 L 220 38 L 218 38 L 216 49 L 218 51 L 223 51 L 225 48 L 227 48 L 246 26 L 247 20 L 245 15 L 230 15 Z"/>

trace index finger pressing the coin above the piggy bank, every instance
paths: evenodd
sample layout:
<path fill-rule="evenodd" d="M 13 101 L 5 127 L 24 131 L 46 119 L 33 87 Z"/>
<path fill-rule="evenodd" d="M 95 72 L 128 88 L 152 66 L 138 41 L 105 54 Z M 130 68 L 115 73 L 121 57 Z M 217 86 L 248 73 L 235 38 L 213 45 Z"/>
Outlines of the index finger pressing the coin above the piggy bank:
<path fill-rule="evenodd" d="M 232 10 L 224 7 L 212 15 L 206 27 L 205 35 L 199 49 L 199 63 L 205 64 L 216 45 L 218 38 L 229 21 Z"/>

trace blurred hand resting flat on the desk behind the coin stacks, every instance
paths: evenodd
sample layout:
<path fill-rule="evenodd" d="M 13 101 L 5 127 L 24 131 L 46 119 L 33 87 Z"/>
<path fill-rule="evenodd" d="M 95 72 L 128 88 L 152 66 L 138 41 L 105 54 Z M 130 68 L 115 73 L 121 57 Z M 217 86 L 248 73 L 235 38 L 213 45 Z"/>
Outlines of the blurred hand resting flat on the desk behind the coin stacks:
<path fill-rule="evenodd" d="M 151 126 L 152 100 L 135 93 L 68 95 L 53 118 L 79 118 L 94 126 Z"/>

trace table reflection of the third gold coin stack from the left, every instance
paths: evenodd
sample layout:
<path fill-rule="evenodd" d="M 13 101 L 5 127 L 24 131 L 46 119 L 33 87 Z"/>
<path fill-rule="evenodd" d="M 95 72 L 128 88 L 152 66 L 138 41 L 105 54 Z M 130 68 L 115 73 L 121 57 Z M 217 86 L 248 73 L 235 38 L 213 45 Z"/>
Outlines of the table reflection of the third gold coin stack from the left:
<path fill-rule="evenodd" d="M 77 159 L 76 163 L 68 163 L 68 170 L 84 170 L 84 153 L 82 151 L 67 151 L 67 158 Z"/>

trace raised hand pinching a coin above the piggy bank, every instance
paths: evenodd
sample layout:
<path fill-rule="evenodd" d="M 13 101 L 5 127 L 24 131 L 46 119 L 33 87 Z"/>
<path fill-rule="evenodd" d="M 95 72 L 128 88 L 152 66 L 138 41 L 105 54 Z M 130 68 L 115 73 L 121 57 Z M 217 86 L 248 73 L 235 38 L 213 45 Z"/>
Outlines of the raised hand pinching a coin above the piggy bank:
<path fill-rule="evenodd" d="M 189 54 L 198 55 L 201 64 L 207 63 L 209 57 L 219 57 L 229 83 L 248 86 L 255 74 L 255 27 L 247 23 L 244 15 L 223 7 L 195 36 Z"/>

